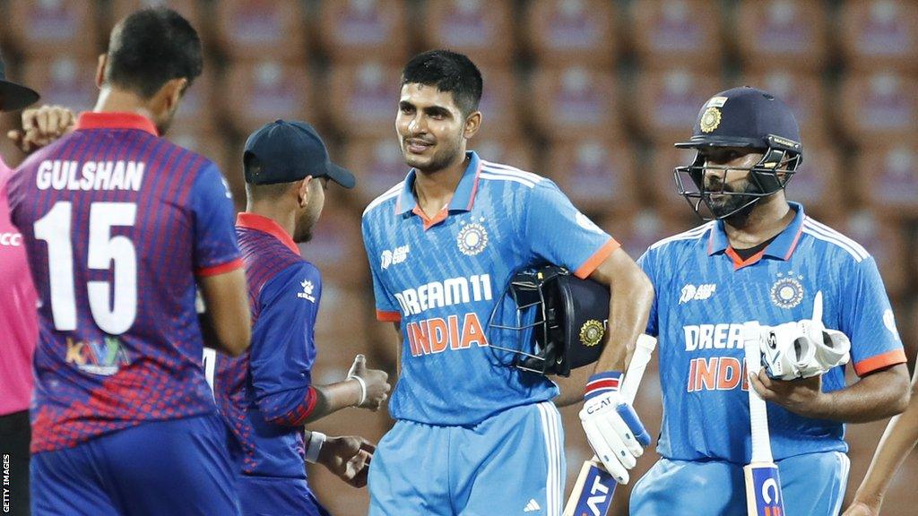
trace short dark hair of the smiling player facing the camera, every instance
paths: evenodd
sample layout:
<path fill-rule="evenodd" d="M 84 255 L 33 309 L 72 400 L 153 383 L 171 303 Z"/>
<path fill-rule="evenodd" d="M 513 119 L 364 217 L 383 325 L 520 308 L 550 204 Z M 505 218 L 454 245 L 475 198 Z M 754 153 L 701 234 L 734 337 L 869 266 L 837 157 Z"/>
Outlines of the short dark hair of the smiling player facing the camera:
<path fill-rule="evenodd" d="M 401 85 L 405 84 L 437 86 L 442 92 L 451 92 L 464 115 L 478 109 L 484 87 L 475 63 L 450 50 L 428 50 L 411 58 L 402 70 Z"/>

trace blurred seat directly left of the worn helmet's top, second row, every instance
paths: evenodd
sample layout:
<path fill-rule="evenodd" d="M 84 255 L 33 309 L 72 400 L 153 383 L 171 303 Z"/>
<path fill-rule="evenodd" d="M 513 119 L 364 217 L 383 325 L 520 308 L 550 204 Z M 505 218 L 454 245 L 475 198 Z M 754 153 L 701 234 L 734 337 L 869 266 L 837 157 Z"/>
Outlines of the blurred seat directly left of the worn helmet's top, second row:
<path fill-rule="evenodd" d="M 644 71 L 623 104 L 645 139 L 670 144 L 691 135 L 701 106 L 723 89 L 720 73 Z"/>

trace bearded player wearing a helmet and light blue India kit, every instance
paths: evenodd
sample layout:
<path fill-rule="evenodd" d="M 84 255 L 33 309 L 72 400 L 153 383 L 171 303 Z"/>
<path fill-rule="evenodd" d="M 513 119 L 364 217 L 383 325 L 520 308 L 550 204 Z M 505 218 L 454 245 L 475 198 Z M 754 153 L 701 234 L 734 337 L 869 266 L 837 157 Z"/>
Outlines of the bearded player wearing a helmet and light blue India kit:
<path fill-rule="evenodd" d="M 751 385 L 767 401 L 785 510 L 837 514 L 849 464 L 844 423 L 890 417 L 908 399 L 905 355 L 877 264 L 785 197 L 802 147 L 778 98 L 750 87 L 714 95 L 691 139 L 677 147 L 698 151 L 694 163 L 676 169 L 677 185 L 711 221 L 656 242 L 639 260 L 656 291 L 647 332 L 659 338 L 662 458 L 634 486 L 631 513 L 745 513 L 744 390 Z M 823 316 L 814 321 L 819 304 Z M 822 375 L 789 381 L 765 369 L 747 375 L 747 320 L 775 329 L 766 348 L 783 356 L 798 340 L 824 351 L 830 337 L 850 339 L 859 380 L 846 386 L 843 367 L 831 364 Z M 786 365 L 781 353 L 766 354 L 770 370 Z M 800 366 L 818 368 L 821 356 Z"/>

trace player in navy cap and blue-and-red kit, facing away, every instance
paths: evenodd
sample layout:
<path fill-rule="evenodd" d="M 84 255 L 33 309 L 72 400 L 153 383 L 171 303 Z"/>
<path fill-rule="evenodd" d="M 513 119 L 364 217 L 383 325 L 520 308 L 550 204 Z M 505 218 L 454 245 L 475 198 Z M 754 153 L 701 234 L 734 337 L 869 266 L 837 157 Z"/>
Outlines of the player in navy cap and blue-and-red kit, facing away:
<path fill-rule="evenodd" d="M 300 257 L 297 242 L 311 238 L 329 181 L 352 188 L 354 178 L 330 162 L 316 130 L 297 121 L 254 131 L 243 164 L 248 204 L 236 234 L 248 278 L 252 346 L 236 358 L 218 357 L 215 383 L 234 436 L 230 455 L 241 512 L 325 515 L 309 489 L 304 460 L 363 487 L 373 445 L 319 432 L 308 432 L 304 443 L 304 424 L 348 407 L 376 410 L 389 392 L 386 372 L 367 369 L 363 355 L 341 382 L 312 383 L 322 279 Z"/>

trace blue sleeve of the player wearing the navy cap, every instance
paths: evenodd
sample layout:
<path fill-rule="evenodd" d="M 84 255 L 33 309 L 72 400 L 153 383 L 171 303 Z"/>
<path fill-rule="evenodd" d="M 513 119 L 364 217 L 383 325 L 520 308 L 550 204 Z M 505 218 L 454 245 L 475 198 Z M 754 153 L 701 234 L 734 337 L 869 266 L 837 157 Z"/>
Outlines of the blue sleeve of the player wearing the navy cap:
<path fill-rule="evenodd" d="M 319 271 L 306 263 L 290 265 L 262 287 L 249 367 L 266 421 L 297 426 L 315 406 L 312 365 L 321 289 Z"/>

